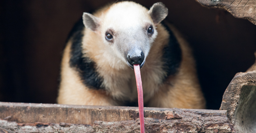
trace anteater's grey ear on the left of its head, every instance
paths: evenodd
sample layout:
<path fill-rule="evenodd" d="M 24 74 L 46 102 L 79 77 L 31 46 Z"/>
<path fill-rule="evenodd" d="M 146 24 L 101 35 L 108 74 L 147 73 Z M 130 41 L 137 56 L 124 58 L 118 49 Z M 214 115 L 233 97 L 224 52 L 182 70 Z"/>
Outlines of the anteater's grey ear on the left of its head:
<path fill-rule="evenodd" d="M 93 16 L 90 13 L 84 12 L 83 23 L 85 25 L 85 28 L 88 28 L 92 31 L 96 31 L 97 28 L 99 27 L 99 18 Z"/>

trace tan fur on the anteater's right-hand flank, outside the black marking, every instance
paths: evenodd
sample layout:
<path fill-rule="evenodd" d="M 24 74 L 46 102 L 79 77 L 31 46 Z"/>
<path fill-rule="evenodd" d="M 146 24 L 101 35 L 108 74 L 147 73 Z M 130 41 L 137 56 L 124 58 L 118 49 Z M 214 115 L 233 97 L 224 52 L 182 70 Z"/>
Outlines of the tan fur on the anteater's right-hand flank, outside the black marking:
<path fill-rule="evenodd" d="M 168 25 L 182 49 L 179 72 L 160 87 L 149 102 L 150 107 L 205 108 L 205 98 L 197 79 L 195 61 L 186 40 L 175 27 Z"/>

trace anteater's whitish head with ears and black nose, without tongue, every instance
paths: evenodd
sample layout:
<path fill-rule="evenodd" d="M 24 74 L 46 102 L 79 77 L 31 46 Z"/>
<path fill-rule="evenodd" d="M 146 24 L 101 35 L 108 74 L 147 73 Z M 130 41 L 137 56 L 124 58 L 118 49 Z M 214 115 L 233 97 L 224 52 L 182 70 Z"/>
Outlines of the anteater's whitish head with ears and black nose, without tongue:
<path fill-rule="evenodd" d="M 161 2 L 148 10 L 135 2 L 118 2 L 102 11 L 97 17 L 83 14 L 86 28 L 101 36 L 119 59 L 133 68 L 145 63 L 149 50 L 157 37 L 156 26 L 168 14 Z"/>

